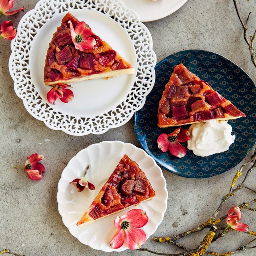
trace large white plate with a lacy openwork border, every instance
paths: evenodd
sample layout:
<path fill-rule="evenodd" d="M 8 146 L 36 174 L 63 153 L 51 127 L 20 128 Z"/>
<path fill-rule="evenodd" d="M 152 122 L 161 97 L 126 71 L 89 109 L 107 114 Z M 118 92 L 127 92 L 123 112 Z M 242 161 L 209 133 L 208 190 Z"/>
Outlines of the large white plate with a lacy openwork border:
<path fill-rule="evenodd" d="M 128 60 L 135 74 L 70 83 L 74 99 L 55 105 L 43 82 L 48 44 L 61 19 L 71 12 Z M 154 86 L 156 56 L 150 32 L 119 0 L 41 0 L 20 20 L 11 42 L 9 70 L 27 111 L 51 129 L 71 135 L 101 134 L 126 123 L 144 105 Z"/>

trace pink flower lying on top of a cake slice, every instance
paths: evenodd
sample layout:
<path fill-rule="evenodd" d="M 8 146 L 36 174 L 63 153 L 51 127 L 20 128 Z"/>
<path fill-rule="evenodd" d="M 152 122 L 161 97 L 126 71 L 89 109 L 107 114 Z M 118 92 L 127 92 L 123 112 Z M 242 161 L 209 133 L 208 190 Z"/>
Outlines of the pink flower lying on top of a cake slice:
<path fill-rule="evenodd" d="M 75 29 L 72 22 L 69 20 L 70 33 L 72 42 L 77 50 L 83 51 L 84 49 L 93 49 L 93 46 L 97 43 L 96 40 L 91 37 L 91 28 L 84 21 L 78 22 Z"/>

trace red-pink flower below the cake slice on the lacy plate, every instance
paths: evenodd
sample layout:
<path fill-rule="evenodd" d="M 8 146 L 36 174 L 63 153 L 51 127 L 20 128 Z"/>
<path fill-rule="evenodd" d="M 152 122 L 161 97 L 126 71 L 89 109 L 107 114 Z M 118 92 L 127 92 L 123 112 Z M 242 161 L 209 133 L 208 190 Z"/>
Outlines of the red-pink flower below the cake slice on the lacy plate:
<path fill-rule="evenodd" d="M 70 89 L 67 89 L 67 87 L 71 86 L 62 83 L 54 85 L 54 87 L 47 93 L 47 100 L 49 103 L 54 105 L 57 98 L 60 98 L 60 100 L 64 103 L 72 101 L 74 98 L 74 93 Z"/>

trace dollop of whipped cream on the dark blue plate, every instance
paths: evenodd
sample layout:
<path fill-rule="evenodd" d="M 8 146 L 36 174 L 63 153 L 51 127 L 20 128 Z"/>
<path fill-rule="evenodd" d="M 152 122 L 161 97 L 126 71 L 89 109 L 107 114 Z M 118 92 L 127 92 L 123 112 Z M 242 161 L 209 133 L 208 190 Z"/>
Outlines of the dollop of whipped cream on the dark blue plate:
<path fill-rule="evenodd" d="M 188 131 L 188 149 L 199 157 L 222 153 L 234 143 L 236 135 L 231 135 L 232 127 L 227 121 L 208 120 L 192 124 Z"/>

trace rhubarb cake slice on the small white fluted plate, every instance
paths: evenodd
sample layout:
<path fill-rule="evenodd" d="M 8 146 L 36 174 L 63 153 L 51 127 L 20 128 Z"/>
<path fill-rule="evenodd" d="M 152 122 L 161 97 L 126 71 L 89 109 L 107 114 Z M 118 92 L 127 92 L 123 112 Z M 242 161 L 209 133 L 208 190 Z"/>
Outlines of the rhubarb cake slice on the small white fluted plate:
<path fill-rule="evenodd" d="M 154 196 L 155 191 L 145 173 L 124 155 L 76 225 L 117 213 Z"/>

